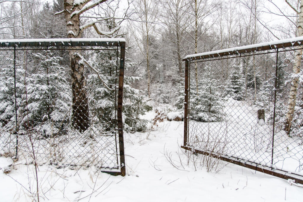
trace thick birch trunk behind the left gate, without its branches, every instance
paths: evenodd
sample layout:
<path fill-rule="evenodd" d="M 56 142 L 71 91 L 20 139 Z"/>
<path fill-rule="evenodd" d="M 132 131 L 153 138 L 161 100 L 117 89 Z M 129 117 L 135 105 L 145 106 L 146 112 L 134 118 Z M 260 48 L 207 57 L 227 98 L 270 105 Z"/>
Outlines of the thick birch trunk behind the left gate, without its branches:
<path fill-rule="evenodd" d="M 71 13 L 81 9 L 81 5 L 73 5 L 73 0 L 64 0 L 65 21 L 68 38 L 81 38 L 79 15 Z M 88 98 L 86 93 L 84 64 L 79 63 L 81 52 L 79 47 L 73 47 L 69 51 L 72 76 L 72 125 L 79 131 L 85 131 L 89 127 Z"/>

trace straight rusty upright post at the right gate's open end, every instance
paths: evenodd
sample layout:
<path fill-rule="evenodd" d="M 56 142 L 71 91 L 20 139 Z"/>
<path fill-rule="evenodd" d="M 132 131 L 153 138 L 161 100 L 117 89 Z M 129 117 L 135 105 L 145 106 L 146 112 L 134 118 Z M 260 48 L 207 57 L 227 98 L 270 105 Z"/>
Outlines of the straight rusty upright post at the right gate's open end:
<path fill-rule="evenodd" d="M 184 99 L 184 142 L 183 145 L 187 145 L 187 129 L 188 129 L 188 66 L 189 61 L 185 61 L 185 99 Z"/>

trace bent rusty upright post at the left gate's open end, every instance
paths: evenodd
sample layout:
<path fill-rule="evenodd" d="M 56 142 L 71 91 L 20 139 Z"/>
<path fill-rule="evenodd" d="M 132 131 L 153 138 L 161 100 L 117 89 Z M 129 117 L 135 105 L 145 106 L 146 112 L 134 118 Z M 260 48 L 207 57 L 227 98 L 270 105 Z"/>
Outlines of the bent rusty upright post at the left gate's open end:
<path fill-rule="evenodd" d="M 124 79 L 124 62 L 125 62 L 125 42 L 120 42 L 120 68 L 119 68 L 119 87 L 118 87 L 118 134 L 121 175 L 125 176 L 125 156 L 124 156 L 124 138 L 123 138 L 123 120 L 122 120 L 122 99 L 123 99 L 123 79 Z"/>

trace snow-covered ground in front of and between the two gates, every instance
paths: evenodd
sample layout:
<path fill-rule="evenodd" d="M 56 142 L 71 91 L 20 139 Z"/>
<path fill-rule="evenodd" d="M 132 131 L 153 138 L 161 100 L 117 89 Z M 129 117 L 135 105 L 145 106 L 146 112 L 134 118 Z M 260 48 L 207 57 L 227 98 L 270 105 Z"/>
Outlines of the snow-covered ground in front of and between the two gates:
<path fill-rule="evenodd" d="M 154 116 L 150 112 L 145 118 Z M 125 134 L 125 177 L 101 173 L 95 167 L 77 171 L 39 166 L 40 201 L 303 200 L 302 187 L 271 175 L 234 164 L 208 173 L 192 159 L 187 164 L 188 153 L 180 148 L 182 143 L 183 122 L 165 120 L 153 131 Z M 9 164 L 11 159 L 0 157 L 2 170 Z M 0 181 L 0 201 L 33 200 L 37 185 L 32 164 L 16 162 L 8 174 L 0 171 Z"/>

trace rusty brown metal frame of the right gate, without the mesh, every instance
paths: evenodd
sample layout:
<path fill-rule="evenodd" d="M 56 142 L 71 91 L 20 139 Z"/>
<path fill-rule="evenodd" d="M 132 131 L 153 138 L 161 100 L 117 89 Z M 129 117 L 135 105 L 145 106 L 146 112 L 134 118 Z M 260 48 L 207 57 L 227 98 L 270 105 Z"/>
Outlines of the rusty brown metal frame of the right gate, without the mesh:
<path fill-rule="evenodd" d="M 252 48 L 247 46 L 243 47 L 237 47 L 237 48 L 230 48 L 230 49 L 223 49 L 218 51 L 212 51 L 208 53 L 201 53 L 197 55 L 188 55 L 185 56 L 185 58 L 182 59 L 182 61 L 185 61 L 185 102 L 184 102 L 184 141 L 181 148 L 185 149 L 186 151 L 190 151 L 196 154 L 203 154 L 207 156 L 211 156 L 226 162 L 230 162 L 233 164 L 237 164 L 243 167 L 247 167 L 249 169 L 263 172 L 265 174 L 270 174 L 276 177 L 280 177 L 283 179 L 292 179 L 295 180 L 296 183 L 303 184 L 303 176 L 299 174 L 294 174 L 291 172 L 283 171 L 280 169 L 276 169 L 273 167 L 264 166 L 255 162 L 251 161 L 244 161 L 237 157 L 230 157 L 228 155 L 224 154 L 215 154 L 210 151 L 201 151 L 197 150 L 195 148 L 192 148 L 191 145 L 188 144 L 188 134 L 189 134 L 189 105 L 190 105 L 190 65 L 191 63 L 197 63 L 197 62 L 205 62 L 205 61 L 214 61 L 214 60 L 222 60 L 222 59 L 228 59 L 228 58 L 239 58 L 239 57 L 246 57 L 246 56 L 253 56 L 253 55 L 264 55 L 267 54 L 265 52 L 258 53 L 258 51 L 270 51 L 268 53 L 276 53 L 278 58 L 278 52 L 284 52 L 284 51 L 291 51 L 291 50 L 302 50 L 303 47 L 303 37 L 297 37 L 289 39 L 286 41 L 276 41 L 270 42 L 270 43 L 262 43 L 262 44 L 256 44 L 255 46 L 252 45 Z M 279 48 L 290 48 L 294 47 L 291 50 L 279 50 Z M 250 54 L 249 54 L 250 53 Z M 249 54 L 249 55 L 241 55 L 241 54 Z M 221 58 L 222 56 L 227 56 L 225 58 Z M 231 57 L 228 57 L 231 56 Z M 278 60 L 278 59 L 277 59 Z M 276 67 L 277 71 L 277 67 Z M 277 74 L 277 72 L 276 72 Z M 277 76 L 277 75 L 276 75 Z M 277 80 L 277 78 L 276 78 Z M 275 91 L 276 93 L 276 91 Z M 274 107 L 275 111 L 275 107 Z M 275 112 L 274 112 L 275 113 Z M 275 115 L 274 115 L 275 117 Z M 275 123 L 275 121 L 274 121 Z M 273 123 L 273 124 L 274 124 Z M 275 126 L 275 125 L 274 125 Z M 274 130 L 273 130 L 273 136 L 274 136 Z M 272 140 L 274 142 L 274 138 Z M 273 150 L 274 147 L 272 147 Z"/>

